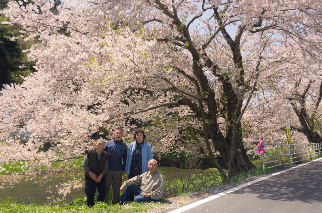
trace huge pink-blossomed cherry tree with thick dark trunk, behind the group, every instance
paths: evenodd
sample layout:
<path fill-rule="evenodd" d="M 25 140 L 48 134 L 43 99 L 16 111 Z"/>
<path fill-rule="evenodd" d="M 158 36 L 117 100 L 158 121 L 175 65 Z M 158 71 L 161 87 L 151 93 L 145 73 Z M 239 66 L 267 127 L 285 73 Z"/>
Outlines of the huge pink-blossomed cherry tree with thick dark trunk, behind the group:
<path fill-rule="evenodd" d="M 321 3 L 304 0 L 65 1 L 53 13 L 54 6 L 10 2 L 2 11 L 23 26 L 25 40 L 39 40 L 28 50 L 38 71 L 0 99 L 1 161 L 24 161 L 31 175 L 81 157 L 97 131 L 129 131 L 138 119 L 154 127 L 155 151 L 206 150 L 228 178 L 254 168 L 241 120 L 259 79 L 275 74 L 272 47 L 293 38 L 314 45 L 306 38 L 319 38 L 321 28 Z M 24 132 L 30 140 L 21 144 Z M 192 132 L 199 143 L 175 147 Z"/>

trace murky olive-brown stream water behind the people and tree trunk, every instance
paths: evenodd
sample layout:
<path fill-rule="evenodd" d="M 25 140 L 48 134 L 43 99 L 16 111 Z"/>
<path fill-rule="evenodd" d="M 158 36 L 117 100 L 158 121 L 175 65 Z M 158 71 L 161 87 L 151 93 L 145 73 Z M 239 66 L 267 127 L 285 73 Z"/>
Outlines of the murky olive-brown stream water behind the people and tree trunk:
<path fill-rule="evenodd" d="M 257 167 L 262 165 L 261 159 L 252 160 L 251 162 Z M 183 174 L 186 173 L 185 169 L 176 169 L 175 167 L 159 167 L 159 171 L 160 170 L 166 172 L 166 175 L 168 178 L 179 177 L 180 172 L 182 172 Z M 203 170 L 203 172 L 205 173 L 211 173 L 213 171 L 216 171 L 216 169 L 211 168 L 211 169 Z M 30 181 L 30 180 L 21 181 L 20 183 L 15 184 L 13 188 L 0 189 L 0 199 L 6 200 L 10 196 L 10 200 L 14 198 L 14 200 L 18 203 L 44 204 L 48 201 L 47 197 L 51 196 L 51 194 L 46 192 L 46 188 L 51 186 L 52 189 L 54 189 L 57 183 L 59 183 L 62 180 L 62 176 L 63 175 L 61 174 L 60 176 L 58 176 L 58 178 L 55 181 L 41 187 L 39 187 L 38 184 L 34 184 L 33 181 Z M 74 176 L 76 176 L 77 178 L 81 177 L 84 180 L 83 171 L 80 171 L 79 173 L 74 174 Z M 66 178 L 66 181 L 70 179 L 71 179 L 71 175 L 68 175 Z M 127 180 L 127 177 L 125 179 Z M 67 196 L 67 199 L 72 200 L 75 198 L 79 198 L 82 195 L 85 196 L 83 188 L 78 191 L 73 191 L 70 195 Z"/>

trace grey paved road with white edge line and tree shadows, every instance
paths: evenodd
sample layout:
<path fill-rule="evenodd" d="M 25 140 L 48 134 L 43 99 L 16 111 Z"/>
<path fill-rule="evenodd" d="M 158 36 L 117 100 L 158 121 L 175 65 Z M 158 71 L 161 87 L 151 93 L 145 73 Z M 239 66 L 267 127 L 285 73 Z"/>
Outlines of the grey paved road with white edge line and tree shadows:
<path fill-rule="evenodd" d="M 164 212 L 322 213 L 321 158 L 252 182 Z"/>

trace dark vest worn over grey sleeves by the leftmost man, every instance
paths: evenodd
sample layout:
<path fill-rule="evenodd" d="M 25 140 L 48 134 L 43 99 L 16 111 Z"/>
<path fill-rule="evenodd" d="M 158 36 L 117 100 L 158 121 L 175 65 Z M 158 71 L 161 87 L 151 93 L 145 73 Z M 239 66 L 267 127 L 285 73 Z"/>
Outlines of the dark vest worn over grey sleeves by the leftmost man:
<path fill-rule="evenodd" d="M 101 171 L 105 167 L 105 163 L 107 158 L 109 157 L 109 154 L 102 150 L 102 156 L 98 160 L 97 152 L 95 149 L 88 149 L 85 153 L 87 153 L 88 166 L 90 167 L 90 171 L 96 174 L 96 176 L 99 176 Z"/>

